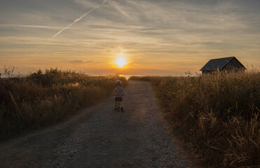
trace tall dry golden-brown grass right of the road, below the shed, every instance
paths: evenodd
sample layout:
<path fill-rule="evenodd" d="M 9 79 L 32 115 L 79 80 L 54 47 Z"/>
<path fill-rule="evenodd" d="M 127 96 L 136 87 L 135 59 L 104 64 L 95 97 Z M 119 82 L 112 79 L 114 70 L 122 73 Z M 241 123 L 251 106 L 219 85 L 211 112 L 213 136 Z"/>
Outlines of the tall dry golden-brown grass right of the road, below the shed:
<path fill-rule="evenodd" d="M 260 73 L 131 77 L 153 83 L 175 133 L 205 167 L 260 167 Z"/>

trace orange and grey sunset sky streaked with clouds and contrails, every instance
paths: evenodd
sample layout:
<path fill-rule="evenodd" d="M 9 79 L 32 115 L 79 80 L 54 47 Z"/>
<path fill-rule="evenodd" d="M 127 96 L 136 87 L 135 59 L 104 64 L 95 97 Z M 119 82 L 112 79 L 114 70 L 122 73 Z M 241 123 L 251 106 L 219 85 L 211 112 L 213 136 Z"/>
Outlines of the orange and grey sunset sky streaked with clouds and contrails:
<path fill-rule="evenodd" d="M 194 73 L 233 56 L 260 65 L 259 0 L 1 0 L 0 72 Z"/>

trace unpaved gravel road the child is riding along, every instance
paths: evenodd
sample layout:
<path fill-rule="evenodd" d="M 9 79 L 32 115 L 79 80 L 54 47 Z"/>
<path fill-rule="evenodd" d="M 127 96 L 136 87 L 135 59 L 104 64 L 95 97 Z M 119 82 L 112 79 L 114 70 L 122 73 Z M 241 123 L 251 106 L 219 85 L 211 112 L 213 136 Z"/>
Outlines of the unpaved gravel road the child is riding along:
<path fill-rule="evenodd" d="M 0 144 L 0 167 L 192 167 L 172 141 L 149 83 L 130 81 L 125 112 L 114 98 L 62 125 Z"/>

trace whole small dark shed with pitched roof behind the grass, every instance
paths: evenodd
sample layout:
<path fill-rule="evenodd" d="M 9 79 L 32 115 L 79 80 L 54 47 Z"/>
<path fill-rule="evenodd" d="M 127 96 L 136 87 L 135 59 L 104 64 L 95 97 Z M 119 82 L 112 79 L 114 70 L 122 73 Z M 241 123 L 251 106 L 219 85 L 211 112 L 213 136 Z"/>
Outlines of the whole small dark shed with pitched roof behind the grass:
<path fill-rule="evenodd" d="M 210 59 L 200 71 L 205 73 L 214 73 L 214 71 L 245 71 L 245 66 L 235 57 L 223 57 Z"/>

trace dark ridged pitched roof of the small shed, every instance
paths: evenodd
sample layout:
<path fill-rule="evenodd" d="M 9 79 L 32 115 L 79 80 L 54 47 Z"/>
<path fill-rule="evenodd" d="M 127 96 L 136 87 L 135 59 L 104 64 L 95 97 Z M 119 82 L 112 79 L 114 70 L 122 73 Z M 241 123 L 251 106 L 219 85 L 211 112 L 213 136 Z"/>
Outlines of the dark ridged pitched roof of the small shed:
<path fill-rule="evenodd" d="M 224 69 L 226 64 L 230 62 L 232 59 L 236 59 L 235 57 L 223 57 L 217 59 L 210 59 L 207 64 L 205 64 L 200 71 L 213 71 L 213 70 L 221 70 Z M 238 59 L 237 59 L 238 60 Z M 243 65 L 242 65 L 243 66 Z"/>

